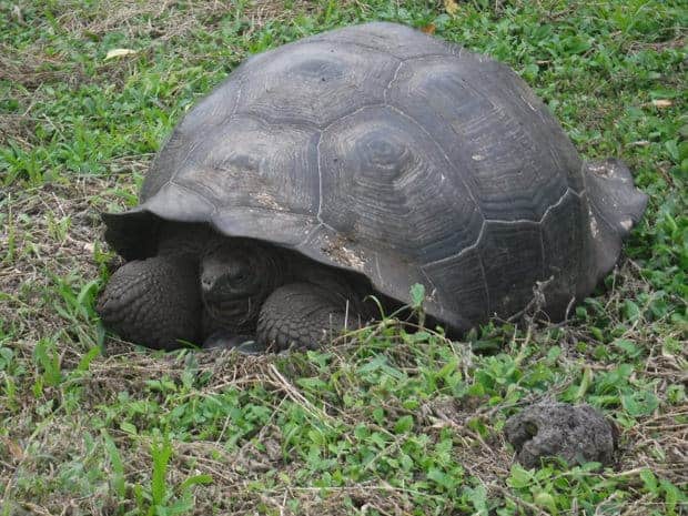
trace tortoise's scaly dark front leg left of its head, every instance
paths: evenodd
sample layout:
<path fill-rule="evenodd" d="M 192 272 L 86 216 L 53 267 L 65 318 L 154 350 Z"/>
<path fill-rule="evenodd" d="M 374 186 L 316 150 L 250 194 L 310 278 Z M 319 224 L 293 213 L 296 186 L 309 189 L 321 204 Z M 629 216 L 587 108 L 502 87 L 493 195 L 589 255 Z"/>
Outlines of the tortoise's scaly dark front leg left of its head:
<path fill-rule="evenodd" d="M 122 338 L 156 350 L 201 337 L 199 265 L 185 256 L 128 262 L 115 271 L 97 312 Z"/>

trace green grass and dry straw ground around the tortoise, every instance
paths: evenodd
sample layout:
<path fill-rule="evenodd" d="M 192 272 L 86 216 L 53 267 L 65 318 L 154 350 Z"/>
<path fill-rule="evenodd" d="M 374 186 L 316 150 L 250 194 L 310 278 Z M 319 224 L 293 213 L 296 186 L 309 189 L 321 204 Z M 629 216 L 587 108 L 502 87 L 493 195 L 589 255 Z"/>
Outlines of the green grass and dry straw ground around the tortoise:
<path fill-rule="evenodd" d="M 0 515 L 686 510 L 685 3 L 456 4 L 0 1 Z M 289 357 L 105 340 L 99 212 L 243 58 L 366 20 L 507 62 L 586 158 L 624 159 L 650 202 L 617 270 L 565 325 L 454 343 L 392 321 Z M 614 467 L 513 465 L 504 422 L 543 398 L 614 418 Z"/>

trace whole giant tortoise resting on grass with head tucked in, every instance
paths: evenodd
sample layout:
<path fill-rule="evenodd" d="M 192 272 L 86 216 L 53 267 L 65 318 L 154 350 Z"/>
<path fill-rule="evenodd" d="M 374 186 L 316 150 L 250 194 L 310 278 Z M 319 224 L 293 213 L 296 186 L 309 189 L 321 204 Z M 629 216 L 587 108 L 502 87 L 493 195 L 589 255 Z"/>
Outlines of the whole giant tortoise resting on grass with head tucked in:
<path fill-rule="evenodd" d="M 127 261 L 98 311 L 152 347 L 322 343 L 425 285 L 461 333 L 561 318 L 617 261 L 646 195 L 584 162 L 507 65 L 394 23 L 247 59 L 179 123 L 140 204 L 104 214 Z"/>

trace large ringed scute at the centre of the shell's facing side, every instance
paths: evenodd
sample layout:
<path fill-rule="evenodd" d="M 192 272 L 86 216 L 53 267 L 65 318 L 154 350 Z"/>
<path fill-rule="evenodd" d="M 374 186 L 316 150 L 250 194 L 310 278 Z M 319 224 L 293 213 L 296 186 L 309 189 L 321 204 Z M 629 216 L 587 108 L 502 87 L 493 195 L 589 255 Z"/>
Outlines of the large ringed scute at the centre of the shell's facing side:
<path fill-rule="evenodd" d="M 321 220 L 357 245 L 431 262 L 471 245 L 483 216 L 433 141 L 371 107 L 322 135 Z"/>

